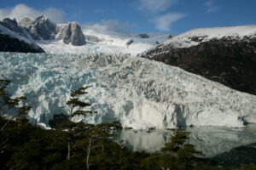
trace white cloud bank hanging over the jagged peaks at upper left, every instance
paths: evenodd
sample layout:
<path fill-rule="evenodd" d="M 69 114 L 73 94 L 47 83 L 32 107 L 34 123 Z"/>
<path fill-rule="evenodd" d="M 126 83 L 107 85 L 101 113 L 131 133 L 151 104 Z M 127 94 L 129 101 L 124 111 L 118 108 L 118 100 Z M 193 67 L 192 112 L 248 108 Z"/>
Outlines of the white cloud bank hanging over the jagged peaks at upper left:
<path fill-rule="evenodd" d="M 13 8 L 0 8 L 1 20 L 6 17 L 15 18 L 17 21 L 22 20 L 24 17 L 35 19 L 42 14 L 56 23 L 62 23 L 65 21 L 65 13 L 57 8 L 45 8 L 44 10 L 37 10 L 35 8 L 26 6 L 25 4 L 17 4 Z"/>

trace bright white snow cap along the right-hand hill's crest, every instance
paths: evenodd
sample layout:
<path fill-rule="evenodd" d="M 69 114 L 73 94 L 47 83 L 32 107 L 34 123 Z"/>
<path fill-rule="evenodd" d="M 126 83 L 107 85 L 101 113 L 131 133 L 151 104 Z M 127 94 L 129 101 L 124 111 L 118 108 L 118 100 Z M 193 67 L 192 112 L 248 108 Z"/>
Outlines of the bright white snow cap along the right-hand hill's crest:
<path fill-rule="evenodd" d="M 189 48 L 201 42 L 207 42 L 213 38 L 221 39 L 224 37 L 238 40 L 243 37 L 256 37 L 256 25 L 196 28 L 176 37 L 172 37 L 162 45 L 172 45 L 173 48 Z"/>

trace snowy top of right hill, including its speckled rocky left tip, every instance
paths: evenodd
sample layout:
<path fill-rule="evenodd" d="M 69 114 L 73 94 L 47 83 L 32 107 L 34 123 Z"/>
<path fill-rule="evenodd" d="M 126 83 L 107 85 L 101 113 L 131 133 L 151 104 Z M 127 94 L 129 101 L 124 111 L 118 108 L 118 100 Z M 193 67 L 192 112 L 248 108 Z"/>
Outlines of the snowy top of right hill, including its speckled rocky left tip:
<path fill-rule="evenodd" d="M 172 48 L 190 48 L 201 44 L 201 42 L 222 38 L 239 41 L 246 37 L 256 37 L 256 25 L 195 28 L 169 38 L 155 48 L 144 51 L 141 56 L 154 58 L 161 54 L 167 54 Z"/>

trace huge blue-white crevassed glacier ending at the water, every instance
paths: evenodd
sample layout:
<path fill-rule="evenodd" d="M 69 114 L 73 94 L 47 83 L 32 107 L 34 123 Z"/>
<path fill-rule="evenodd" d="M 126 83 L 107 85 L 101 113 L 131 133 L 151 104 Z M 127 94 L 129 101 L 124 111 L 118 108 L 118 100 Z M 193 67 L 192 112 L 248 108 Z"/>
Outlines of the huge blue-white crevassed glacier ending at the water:
<path fill-rule="evenodd" d="M 237 92 L 177 67 L 117 54 L 0 54 L 10 94 L 25 95 L 32 121 L 67 113 L 72 90 L 91 85 L 91 123 L 124 127 L 242 127 L 256 122 L 256 96 Z"/>

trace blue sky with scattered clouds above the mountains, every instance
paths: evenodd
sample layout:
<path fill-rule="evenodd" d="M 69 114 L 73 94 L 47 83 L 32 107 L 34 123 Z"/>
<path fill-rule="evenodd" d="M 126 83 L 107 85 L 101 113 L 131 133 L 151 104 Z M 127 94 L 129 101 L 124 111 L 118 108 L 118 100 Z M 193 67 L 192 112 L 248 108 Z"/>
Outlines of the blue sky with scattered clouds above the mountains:
<path fill-rule="evenodd" d="M 0 19 L 44 14 L 108 30 L 180 34 L 197 27 L 256 24 L 256 0 L 0 0 Z"/>

